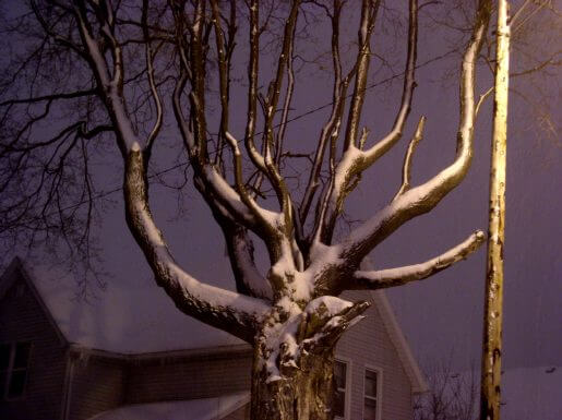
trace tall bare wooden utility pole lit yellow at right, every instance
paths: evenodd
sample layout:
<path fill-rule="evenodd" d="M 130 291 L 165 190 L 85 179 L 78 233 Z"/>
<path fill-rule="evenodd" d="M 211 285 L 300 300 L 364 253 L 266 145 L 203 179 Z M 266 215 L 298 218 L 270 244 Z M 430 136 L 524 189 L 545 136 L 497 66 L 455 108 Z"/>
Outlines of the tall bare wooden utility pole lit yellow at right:
<path fill-rule="evenodd" d="M 498 0 L 495 92 L 490 169 L 490 219 L 488 225 L 480 420 L 500 419 L 505 161 L 507 140 L 507 88 L 510 80 L 510 26 L 507 23 L 507 0 Z"/>

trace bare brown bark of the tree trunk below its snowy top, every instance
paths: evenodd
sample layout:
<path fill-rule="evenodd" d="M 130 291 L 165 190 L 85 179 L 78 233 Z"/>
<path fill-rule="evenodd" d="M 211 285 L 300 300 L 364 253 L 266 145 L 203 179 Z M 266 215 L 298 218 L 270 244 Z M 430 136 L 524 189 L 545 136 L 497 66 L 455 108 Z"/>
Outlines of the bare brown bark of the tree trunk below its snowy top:
<path fill-rule="evenodd" d="M 254 351 L 252 420 L 332 420 L 334 351 L 301 358 L 299 369 L 267 382 L 265 360 Z"/>

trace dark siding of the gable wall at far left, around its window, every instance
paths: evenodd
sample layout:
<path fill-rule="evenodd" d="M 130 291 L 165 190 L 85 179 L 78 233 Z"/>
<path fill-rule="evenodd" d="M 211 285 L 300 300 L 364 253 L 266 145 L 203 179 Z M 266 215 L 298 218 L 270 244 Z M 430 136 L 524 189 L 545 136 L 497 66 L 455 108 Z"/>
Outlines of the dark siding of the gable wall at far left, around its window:
<path fill-rule="evenodd" d="M 27 382 L 23 397 L 7 401 L 0 395 L 0 419 L 57 420 L 61 416 L 65 346 L 33 291 L 20 276 L 0 301 L 0 343 L 31 343 Z"/>

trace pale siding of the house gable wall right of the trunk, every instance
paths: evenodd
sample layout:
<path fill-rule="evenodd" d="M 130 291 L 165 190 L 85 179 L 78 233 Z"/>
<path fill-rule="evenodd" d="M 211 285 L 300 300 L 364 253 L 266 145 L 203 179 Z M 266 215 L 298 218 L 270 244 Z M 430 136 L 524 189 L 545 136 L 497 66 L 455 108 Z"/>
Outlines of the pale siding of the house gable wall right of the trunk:
<path fill-rule="evenodd" d="M 369 295 L 348 291 L 343 297 L 366 300 Z M 364 370 L 369 367 L 380 370 L 383 379 L 381 419 L 376 420 L 410 420 L 414 418 L 411 385 L 398 359 L 397 349 L 375 305 L 366 315 L 364 320 L 345 333 L 336 347 L 337 356 L 352 360 L 351 385 L 348 387 L 351 396 L 350 418 L 346 420 L 363 418 Z"/>

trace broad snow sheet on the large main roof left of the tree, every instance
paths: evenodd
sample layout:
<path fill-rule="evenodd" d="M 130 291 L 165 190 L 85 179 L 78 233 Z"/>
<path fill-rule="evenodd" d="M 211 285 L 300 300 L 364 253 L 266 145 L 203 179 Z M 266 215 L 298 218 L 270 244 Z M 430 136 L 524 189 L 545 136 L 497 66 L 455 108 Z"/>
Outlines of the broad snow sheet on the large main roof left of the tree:
<path fill-rule="evenodd" d="M 22 268 L 70 343 L 123 355 L 243 344 L 181 313 L 156 285 L 112 281 L 85 301 L 76 299 L 69 275 L 26 264 Z"/>

